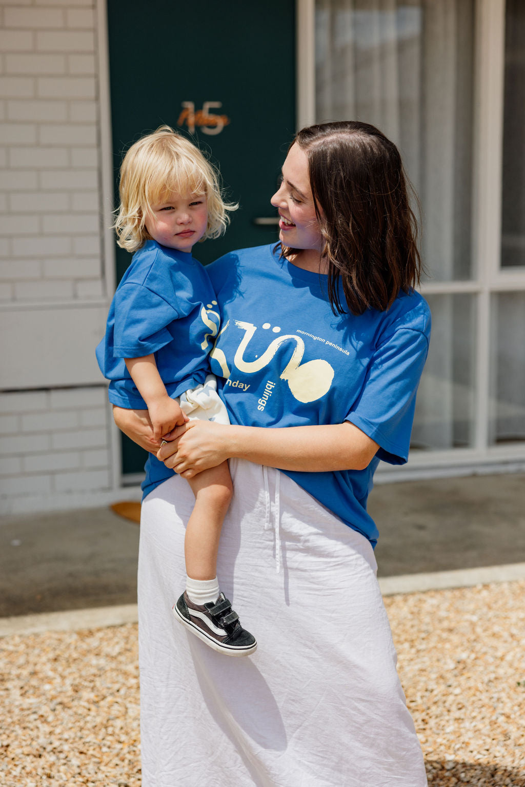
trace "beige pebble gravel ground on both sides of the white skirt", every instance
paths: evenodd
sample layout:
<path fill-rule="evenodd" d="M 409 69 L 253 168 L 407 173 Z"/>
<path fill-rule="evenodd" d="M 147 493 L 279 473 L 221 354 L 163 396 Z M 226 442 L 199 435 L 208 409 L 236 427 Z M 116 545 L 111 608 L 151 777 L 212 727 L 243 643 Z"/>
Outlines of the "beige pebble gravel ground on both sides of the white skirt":
<path fill-rule="evenodd" d="M 386 598 L 431 787 L 525 787 L 524 592 Z M 136 639 L 128 625 L 0 640 L 2 787 L 139 787 Z"/>

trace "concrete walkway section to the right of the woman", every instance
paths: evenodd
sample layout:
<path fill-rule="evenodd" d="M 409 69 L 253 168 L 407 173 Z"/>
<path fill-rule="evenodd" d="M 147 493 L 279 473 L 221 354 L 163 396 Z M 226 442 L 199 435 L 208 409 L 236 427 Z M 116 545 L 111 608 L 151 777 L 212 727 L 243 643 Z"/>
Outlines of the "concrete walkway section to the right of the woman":
<path fill-rule="evenodd" d="M 525 475 L 471 475 L 378 484 L 378 575 L 525 562 Z"/>

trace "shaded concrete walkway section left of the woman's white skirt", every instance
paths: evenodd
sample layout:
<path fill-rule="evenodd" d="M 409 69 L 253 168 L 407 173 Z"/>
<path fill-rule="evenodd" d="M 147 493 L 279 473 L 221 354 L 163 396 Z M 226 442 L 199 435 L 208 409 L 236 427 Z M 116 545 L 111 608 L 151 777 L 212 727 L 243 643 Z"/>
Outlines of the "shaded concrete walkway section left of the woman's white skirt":
<path fill-rule="evenodd" d="M 110 508 L 4 517 L 0 618 L 134 604 L 139 526 Z"/>

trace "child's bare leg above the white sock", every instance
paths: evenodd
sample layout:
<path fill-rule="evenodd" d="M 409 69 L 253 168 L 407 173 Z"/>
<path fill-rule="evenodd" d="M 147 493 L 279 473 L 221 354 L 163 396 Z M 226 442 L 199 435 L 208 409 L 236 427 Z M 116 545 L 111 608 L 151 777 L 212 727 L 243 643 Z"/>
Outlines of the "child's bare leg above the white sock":
<path fill-rule="evenodd" d="M 195 505 L 184 540 L 186 573 L 192 579 L 214 579 L 220 529 L 233 493 L 227 462 L 202 471 L 188 483 Z"/>

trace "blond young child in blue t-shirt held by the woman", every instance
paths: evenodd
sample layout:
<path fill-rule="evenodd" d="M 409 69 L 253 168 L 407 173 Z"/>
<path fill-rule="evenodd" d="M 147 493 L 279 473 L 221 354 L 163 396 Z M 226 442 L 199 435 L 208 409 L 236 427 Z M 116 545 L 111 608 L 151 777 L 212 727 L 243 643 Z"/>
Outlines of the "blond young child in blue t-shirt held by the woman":
<path fill-rule="evenodd" d="M 188 419 L 229 423 L 209 375 L 209 338 L 220 322 L 215 294 L 191 249 L 220 235 L 227 211 L 235 208 L 224 204 L 209 161 L 168 126 L 139 139 L 124 157 L 114 226 L 119 246 L 135 253 L 113 297 L 97 360 L 110 380 L 109 401 L 147 408 L 158 445 Z M 214 650 L 249 655 L 257 641 L 242 628 L 216 578 L 220 528 L 232 494 L 227 462 L 188 482 L 195 504 L 184 541 L 187 585 L 173 611 Z"/>

